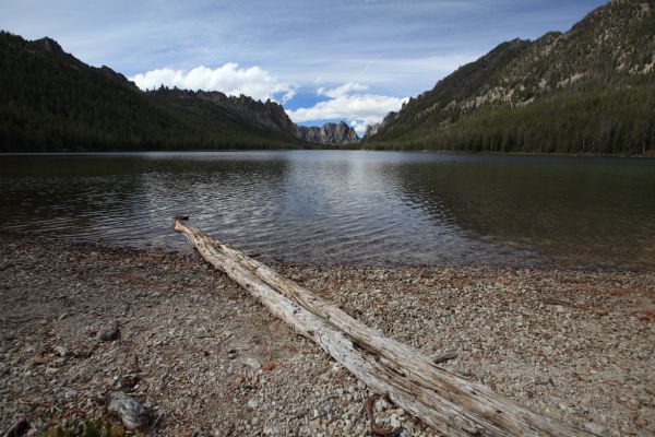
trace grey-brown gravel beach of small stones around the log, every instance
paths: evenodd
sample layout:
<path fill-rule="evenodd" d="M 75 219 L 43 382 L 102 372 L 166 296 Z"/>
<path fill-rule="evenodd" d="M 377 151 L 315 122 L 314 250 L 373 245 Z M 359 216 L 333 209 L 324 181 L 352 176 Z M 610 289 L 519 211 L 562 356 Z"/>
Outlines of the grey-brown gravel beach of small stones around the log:
<path fill-rule="evenodd" d="M 365 436 L 372 394 L 194 255 L 0 235 L 0 433 L 107 415 L 148 435 Z M 607 436 L 655 435 L 655 273 L 272 264 L 516 403 Z M 116 332 L 111 329 L 118 327 Z M 380 423 L 433 435 L 380 400 Z"/>

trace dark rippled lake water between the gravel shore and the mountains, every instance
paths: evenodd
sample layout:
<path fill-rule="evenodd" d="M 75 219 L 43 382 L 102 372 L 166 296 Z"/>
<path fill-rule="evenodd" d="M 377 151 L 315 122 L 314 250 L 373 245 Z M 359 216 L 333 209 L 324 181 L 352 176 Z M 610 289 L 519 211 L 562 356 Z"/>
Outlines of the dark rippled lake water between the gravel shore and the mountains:
<path fill-rule="evenodd" d="M 3 227 L 264 259 L 655 268 L 655 161 L 386 152 L 0 156 Z"/>

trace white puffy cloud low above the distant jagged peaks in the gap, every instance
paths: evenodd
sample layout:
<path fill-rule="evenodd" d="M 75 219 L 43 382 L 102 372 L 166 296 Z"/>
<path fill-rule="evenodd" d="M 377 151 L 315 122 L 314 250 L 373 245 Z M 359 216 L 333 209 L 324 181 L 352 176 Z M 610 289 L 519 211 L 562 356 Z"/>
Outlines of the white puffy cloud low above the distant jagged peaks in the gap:
<path fill-rule="evenodd" d="M 321 121 L 330 119 L 347 120 L 361 135 L 368 125 L 374 125 L 392 110 L 398 110 L 408 97 L 393 97 L 379 94 L 353 93 L 368 86 L 348 82 L 334 88 L 319 88 L 318 94 L 331 97 L 310 108 L 287 110 L 295 122 Z"/>

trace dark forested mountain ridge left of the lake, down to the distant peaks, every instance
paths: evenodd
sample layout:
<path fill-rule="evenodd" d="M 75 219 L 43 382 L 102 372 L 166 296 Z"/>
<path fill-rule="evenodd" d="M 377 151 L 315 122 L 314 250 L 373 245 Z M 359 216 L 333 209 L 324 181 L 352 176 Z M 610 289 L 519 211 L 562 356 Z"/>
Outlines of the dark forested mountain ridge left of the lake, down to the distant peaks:
<path fill-rule="evenodd" d="M 0 152 L 289 149 L 352 141 L 341 128 L 310 128 L 325 134 L 307 134 L 271 101 L 165 87 L 143 92 L 51 38 L 27 42 L 0 32 Z"/>

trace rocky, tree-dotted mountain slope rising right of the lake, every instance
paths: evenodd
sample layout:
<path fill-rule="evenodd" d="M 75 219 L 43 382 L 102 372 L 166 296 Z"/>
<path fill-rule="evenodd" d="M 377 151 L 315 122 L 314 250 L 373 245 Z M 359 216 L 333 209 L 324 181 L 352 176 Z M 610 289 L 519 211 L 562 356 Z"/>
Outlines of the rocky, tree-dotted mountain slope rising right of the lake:
<path fill-rule="evenodd" d="M 655 1 L 611 1 L 565 33 L 503 43 L 370 127 L 364 146 L 654 151 Z"/>

